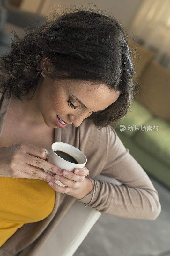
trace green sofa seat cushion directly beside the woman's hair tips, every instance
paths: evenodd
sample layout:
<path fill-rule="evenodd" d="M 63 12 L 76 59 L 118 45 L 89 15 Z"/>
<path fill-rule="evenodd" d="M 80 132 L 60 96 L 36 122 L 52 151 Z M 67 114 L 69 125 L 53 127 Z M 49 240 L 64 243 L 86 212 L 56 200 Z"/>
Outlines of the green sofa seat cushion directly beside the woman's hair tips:
<path fill-rule="evenodd" d="M 126 134 L 129 137 L 134 136 L 138 130 L 135 130 L 135 125 L 137 126 L 141 126 L 143 124 L 145 124 L 148 120 L 150 120 L 152 118 L 152 114 L 147 110 L 147 108 L 145 108 L 144 106 L 142 106 L 139 102 L 137 102 L 136 100 L 132 101 L 132 104 L 128 110 L 128 112 L 126 113 L 126 115 L 118 122 L 115 130 L 119 130 L 120 131 L 120 125 L 124 125 L 126 126 L 126 130 L 122 131 L 124 134 Z M 128 126 L 132 126 L 133 129 L 129 129 L 128 131 Z M 140 128 L 139 128 L 140 130 Z"/>

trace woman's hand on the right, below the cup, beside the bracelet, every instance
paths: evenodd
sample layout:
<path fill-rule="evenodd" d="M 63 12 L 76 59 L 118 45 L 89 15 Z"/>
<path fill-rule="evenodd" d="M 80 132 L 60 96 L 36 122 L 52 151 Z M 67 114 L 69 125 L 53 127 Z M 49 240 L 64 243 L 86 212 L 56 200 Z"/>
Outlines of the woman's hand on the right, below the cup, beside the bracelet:
<path fill-rule="evenodd" d="M 79 172 L 75 173 L 75 170 L 78 169 Z M 65 173 L 66 171 L 66 173 Z M 58 175 L 58 177 L 57 177 Z M 75 168 L 74 172 L 68 171 L 68 170 L 62 170 L 62 173 L 56 174 L 54 177 L 62 182 L 65 187 L 62 187 L 56 183 L 53 183 L 53 185 L 50 185 L 51 188 L 53 188 L 55 191 L 62 193 L 62 194 L 67 194 L 69 196 L 74 196 L 78 199 L 78 197 L 81 197 L 81 191 L 83 192 L 85 189 L 85 186 L 87 185 L 87 178 L 85 176 L 89 175 L 89 170 L 87 167 L 83 168 Z M 92 184 L 92 183 L 91 183 Z M 85 191 L 84 191 L 85 192 Z M 87 191 L 88 194 L 88 191 Z"/>

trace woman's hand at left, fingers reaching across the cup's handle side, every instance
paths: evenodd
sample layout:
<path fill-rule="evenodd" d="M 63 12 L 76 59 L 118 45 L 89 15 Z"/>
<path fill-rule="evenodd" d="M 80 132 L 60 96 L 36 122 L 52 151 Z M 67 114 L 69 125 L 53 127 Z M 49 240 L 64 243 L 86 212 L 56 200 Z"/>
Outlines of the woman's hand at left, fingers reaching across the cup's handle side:
<path fill-rule="evenodd" d="M 0 174 L 5 177 L 49 181 L 54 176 L 42 169 L 55 175 L 57 169 L 61 168 L 48 163 L 46 158 L 47 153 L 43 148 L 26 143 L 0 148 Z"/>

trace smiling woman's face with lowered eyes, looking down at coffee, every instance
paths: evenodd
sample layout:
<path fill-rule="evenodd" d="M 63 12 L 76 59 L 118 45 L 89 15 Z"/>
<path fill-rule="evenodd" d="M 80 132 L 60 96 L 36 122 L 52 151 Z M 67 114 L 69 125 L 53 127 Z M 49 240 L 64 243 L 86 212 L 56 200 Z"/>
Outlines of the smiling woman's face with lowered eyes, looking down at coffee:
<path fill-rule="evenodd" d="M 78 127 L 92 112 L 107 108 L 120 95 L 120 91 L 112 92 L 105 84 L 67 79 L 57 81 L 42 76 L 38 86 L 38 105 L 45 123 L 52 128 L 58 127 L 56 115 Z"/>

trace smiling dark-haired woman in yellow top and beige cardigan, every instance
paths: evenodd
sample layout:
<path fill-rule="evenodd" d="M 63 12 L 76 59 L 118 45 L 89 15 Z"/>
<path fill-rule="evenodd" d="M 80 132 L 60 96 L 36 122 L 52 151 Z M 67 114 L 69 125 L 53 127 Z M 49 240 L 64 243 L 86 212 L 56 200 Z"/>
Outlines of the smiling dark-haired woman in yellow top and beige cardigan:
<path fill-rule="evenodd" d="M 113 129 L 134 92 L 121 25 L 80 10 L 15 38 L 0 63 L 0 255 L 38 255 L 76 199 L 103 214 L 155 220 L 158 192 Z M 43 148 L 55 141 L 79 148 L 86 167 L 64 173 L 48 163 Z M 48 184 L 54 177 L 43 169 L 66 186 Z M 95 181 L 100 173 L 122 185 Z"/>

